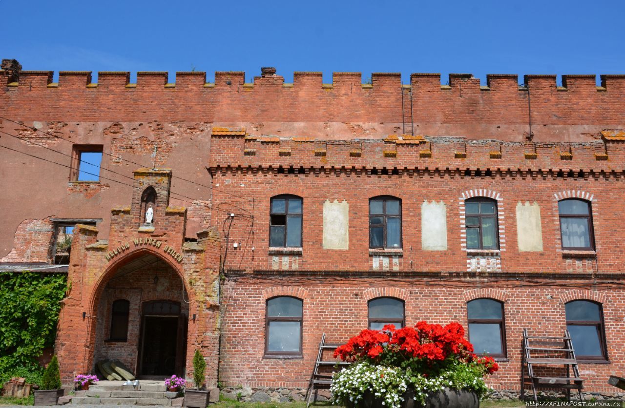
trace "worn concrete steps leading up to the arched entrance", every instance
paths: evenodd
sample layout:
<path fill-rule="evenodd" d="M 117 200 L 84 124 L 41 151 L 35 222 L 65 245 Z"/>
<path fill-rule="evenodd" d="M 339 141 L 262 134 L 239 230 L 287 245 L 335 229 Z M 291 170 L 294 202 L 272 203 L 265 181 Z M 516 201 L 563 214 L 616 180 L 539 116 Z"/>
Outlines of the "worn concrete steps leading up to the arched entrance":
<path fill-rule="evenodd" d="M 124 381 L 99 381 L 89 391 L 76 391 L 73 405 L 140 405 L 181 407 L 182 397 L 168 398 L 164 381 L 139 380 L 137 387 L 124 386 Z M 168 393 L 169 394 L 169 393 Z"/>

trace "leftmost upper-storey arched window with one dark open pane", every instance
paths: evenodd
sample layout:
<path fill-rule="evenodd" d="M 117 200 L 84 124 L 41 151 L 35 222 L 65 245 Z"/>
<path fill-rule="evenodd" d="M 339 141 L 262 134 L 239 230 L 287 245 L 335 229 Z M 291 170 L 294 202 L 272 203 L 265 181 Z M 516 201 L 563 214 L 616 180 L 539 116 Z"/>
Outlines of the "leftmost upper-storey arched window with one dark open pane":
<path fill-rule="evenodd" d="M 302 246 L 302 199 L 294 195 L 271 198 L 269 246 Z"/>

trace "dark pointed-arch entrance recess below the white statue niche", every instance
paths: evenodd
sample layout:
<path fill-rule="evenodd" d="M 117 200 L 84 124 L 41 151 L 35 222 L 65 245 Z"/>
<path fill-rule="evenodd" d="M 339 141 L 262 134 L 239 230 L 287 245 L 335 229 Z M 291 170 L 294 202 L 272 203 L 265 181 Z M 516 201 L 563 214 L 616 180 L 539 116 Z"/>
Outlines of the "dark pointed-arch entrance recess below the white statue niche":
<path fill-rule="evenodd" d="M 178 272 L 143 251 L 107 276 L 95 304 L 94 368 L 116 360 L 139 379 L 184 376 L 189 295 Z"/>

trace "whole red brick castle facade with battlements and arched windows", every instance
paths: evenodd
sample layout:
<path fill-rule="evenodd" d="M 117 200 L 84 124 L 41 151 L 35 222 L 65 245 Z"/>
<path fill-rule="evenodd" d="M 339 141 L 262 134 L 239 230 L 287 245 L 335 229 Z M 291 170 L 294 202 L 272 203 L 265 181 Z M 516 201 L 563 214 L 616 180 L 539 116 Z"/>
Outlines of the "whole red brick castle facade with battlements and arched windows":
<path fill-rule="evenodd" d="M 568 326 L 586 391 L 613 392 L 625 75 L 52 78 L 2 62 L 0 260 L 63 260 L 74 226 L 64 381 L 104 358 L 188 377 L 200 349 L 209 386 L 301 389 L 323 333 L 397 319 L 459 321 L 498 356 L 502 391 L 519 390 L 523 328 Z M 77 178 L 82 152 L 101 153 L 98 180 Z M 500 317 L 471 316 L 478 299 Z"/>

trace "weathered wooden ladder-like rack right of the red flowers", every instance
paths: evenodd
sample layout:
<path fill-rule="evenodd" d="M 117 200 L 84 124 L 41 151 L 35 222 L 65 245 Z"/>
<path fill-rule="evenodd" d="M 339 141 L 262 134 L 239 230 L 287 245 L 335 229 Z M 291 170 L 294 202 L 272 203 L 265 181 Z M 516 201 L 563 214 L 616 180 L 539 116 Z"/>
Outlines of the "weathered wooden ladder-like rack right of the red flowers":
<path fill-rule="evenodd" d="M 558 336 L 529 336 L 527 329 L 523 329 L 523 352 L 521 364 L 521 399 L 524 397 L 524 386 L 531 383 L 534 392 L 534 402 L 538 401 L 536 389 L 539 387 L 566 389 L 566 397 L 571 401 L 571 389 L 576 389 L 579 393 L 579 401 L 582 399 L 583 382 L 579 377 L 579 368 L 575 350 L 571 342 L 571 334 L 564 331 L 564 337 Z M 557 371 L 554 365 L 562 365 L 564 376 L 551 374 Z M 526 368 L 527 366 L 527 368 Z M 551 376 L 539 375 L 536 372 L 537 366 L 539 374 L 546 372 Z M 527 374 L 527 375 L 526 375 Z"/>

